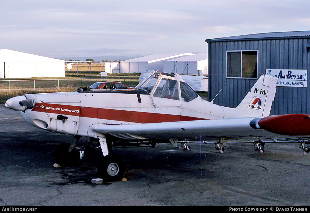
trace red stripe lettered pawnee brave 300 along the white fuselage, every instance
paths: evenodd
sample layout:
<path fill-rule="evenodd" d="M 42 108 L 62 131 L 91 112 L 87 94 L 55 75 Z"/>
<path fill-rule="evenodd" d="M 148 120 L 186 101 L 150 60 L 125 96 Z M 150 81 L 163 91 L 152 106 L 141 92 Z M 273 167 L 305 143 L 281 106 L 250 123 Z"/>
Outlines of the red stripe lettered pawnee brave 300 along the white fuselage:
<path fill-rule="evenodd" d="M 75 115 L 80 117 L 98 118 L 113 121 L 126 121 L 134 123 L 158 123 L 172 121 L 205 120 L 205 118 L 182 115 L 169 115 L 162 113 L 147 113 L 120 109 L 104 109 L 94 107 L 79 107 L 62 104 L 36 103 L 32 111 L 56 113 L 62 115 Z"/>

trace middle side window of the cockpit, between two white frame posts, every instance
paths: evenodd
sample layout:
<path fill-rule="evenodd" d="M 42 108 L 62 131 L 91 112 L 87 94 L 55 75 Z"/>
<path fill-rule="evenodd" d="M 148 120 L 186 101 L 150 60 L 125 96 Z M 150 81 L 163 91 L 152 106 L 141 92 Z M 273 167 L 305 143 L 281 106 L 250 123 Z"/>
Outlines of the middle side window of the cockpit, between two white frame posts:
<path fill-rule="evenodd" d="M 158 84 L 153 96 L 159 98 L 180 100 L 178 81 L 171 79 L 162 79 Z"/>

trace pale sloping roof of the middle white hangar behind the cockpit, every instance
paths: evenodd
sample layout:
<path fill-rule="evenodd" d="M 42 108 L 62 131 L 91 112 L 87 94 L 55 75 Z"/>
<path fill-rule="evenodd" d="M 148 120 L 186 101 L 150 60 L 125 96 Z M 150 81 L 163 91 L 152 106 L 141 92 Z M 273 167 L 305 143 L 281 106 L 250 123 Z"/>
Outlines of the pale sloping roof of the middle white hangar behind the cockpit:
<path fill-rule="evenodd" d="M 163 61 L 163 60 L 169 60 L 172 58 L 179 58 L 183 56 L 188 56 L 188 55 L 194 55 L 193 53 L 159 53 L 159 54 L 154 54 L 154 55 L 148 55 L 148 56 L 143 56 L 139 58 L 133 58 L 129 60 L 125 60 L 122 62 L 157 62 L 157 61 Z"/>

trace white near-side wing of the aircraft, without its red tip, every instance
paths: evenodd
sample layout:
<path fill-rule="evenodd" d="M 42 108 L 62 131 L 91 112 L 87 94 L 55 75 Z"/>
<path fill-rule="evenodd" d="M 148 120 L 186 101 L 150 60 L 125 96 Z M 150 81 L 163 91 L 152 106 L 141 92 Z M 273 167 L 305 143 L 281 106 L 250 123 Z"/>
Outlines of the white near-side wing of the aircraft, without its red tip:
<path fill-rule="evenodd" d="M 260 117 L 262 118 L 262 117 Z M 120 138 L 125 135 L 148 139 L 218 140 L 218 138 L 246 138 L 262 135 L 273 138 L 275 134 L 262 129 L 254 129 L 250 121 L 258 117 L 230 118 L 219 120 L 178 121 L 146 124 L 105 124 L 94 126 L 93 130 L 102 134 L 112 134 Z"/>

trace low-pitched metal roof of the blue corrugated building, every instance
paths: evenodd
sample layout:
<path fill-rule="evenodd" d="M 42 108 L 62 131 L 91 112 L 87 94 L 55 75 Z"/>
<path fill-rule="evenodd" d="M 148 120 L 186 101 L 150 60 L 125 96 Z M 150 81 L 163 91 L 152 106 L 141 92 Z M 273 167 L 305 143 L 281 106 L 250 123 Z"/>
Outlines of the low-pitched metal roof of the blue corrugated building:
<path fill-rule="evenodd" d="M 310 31 L 292 32 L 265 32 L 241 36 L 229 36 L 223 38 L 207 39 L 206 42 L 237 41 L 237 40 L 266 40 L 266 39 L 289 39 L 289 38 L 310 38 Z"/>

